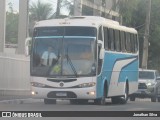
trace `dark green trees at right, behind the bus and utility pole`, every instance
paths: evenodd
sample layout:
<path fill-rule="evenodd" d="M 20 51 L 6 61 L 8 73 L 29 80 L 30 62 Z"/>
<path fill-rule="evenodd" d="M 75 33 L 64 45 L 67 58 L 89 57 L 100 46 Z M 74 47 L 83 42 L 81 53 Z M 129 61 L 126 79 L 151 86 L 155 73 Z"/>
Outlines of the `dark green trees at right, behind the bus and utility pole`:
<path fill-rule="evenodd" d="M 146 18 L 146 0 L 119 0 L 119 11 L 123 17 L 123 24 L 138 30 L 140 41 L 140 67 L 142 59 L 142 48 L 144 40 L 144 25 Z M 151 25 L 149 34 L 149 58 L 148 68 L 160 70 L 160 1 L 152 0 Z"/>

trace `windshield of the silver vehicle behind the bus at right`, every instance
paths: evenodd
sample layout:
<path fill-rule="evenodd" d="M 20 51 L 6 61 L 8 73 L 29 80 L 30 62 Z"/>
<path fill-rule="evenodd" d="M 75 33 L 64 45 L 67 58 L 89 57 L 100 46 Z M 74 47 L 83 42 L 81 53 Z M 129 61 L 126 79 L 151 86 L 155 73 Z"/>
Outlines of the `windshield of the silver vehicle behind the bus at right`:
<path fill-rule="evenodd" d="M 154 79 L 154 72 L 140 71 L 139 78 L 140 79 Z"/>

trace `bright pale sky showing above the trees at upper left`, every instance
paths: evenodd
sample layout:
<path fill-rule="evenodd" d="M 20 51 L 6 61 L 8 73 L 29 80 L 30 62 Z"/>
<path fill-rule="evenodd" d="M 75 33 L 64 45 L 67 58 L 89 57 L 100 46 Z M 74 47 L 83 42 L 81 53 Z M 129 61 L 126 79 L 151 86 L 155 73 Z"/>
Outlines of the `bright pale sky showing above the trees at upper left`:
<path fill-rule="evenodd" d="M 37 2 L 38 0 L 29 0 L 30 4 L 32 2 Z M 50 3 L 53 5 L 54 10 L 56 9 L 56 5 L 57 5 L 57 0 L 41 0 L 43 3 Z M 6 9 L 8 10 L 8 3 L 12 3 L 13 5 L 13 10 L 15 12 L 19 11 L 19 0 L 6 0 Z"/>

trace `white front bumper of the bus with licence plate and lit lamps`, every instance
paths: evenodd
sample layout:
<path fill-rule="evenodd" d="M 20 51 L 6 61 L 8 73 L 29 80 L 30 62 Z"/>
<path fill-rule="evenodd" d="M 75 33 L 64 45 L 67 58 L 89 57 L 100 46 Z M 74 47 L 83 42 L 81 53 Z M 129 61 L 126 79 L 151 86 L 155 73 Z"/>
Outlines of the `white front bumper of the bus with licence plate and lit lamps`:
<path fill-rule="evenodd" d="M 38 99 L 96 99 L 95 87 L 75 89 L 32 88 L 32 97 Z"/>

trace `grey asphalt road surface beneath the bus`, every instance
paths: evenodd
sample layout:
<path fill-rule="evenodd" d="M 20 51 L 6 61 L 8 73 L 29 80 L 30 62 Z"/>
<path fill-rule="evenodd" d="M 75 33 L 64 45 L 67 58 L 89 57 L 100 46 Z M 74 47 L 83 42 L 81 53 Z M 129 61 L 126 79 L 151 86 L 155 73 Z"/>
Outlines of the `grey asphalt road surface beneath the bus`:
<path fill-rule="evenodd" d="M 127 104 L 112 104 L 108 99 L 106 105 L 71 105 L 67 100 L 58 100 L 57 104 L 46 105 L 42 99 L 4 100 L 0 101 L 0 111 L 160 111 L 159 102 L 149 99 L 128 101 Z"/>

